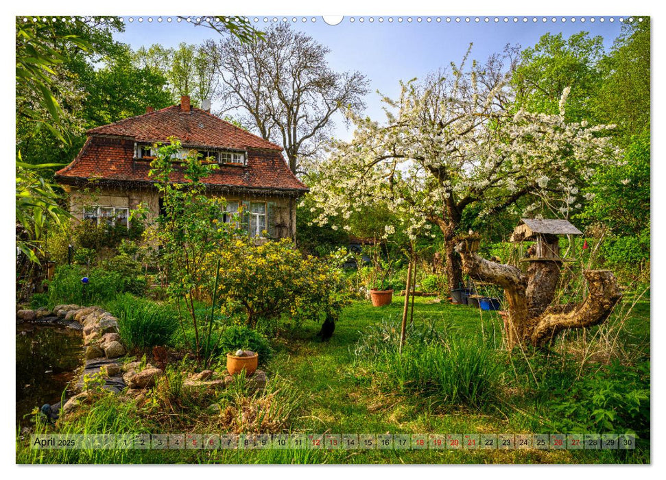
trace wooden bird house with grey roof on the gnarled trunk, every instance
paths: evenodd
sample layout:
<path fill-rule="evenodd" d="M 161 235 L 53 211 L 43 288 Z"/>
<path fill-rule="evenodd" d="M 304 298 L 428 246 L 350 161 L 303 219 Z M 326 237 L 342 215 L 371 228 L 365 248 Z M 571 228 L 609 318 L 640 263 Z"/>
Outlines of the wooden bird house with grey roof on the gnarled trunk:
<path fill-rule="evenodd" d="M 558 261 L 561 235 L 583 235 L 568 220 L 522 218 L 511 235 L 512 242 L 533 241 L 522 261 Z"/>

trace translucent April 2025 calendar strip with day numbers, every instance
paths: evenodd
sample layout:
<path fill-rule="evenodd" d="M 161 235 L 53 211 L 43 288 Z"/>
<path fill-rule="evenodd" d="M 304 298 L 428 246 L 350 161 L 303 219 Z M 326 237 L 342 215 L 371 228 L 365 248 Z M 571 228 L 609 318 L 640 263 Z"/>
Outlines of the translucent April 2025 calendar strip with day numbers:
<path fill-rule="evenodd" d="M 634 450 L 633 434 L 281 433 L 32 435 L 39 450 Z"/>

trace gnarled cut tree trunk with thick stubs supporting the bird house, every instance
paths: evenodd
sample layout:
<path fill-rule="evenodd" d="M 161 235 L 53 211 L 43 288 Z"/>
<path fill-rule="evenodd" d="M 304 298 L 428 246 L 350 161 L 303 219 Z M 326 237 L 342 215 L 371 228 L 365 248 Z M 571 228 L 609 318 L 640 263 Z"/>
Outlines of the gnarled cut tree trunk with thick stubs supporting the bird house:
<path fill-rule="evenodd" d="M 462 257 L 462 268 L 472 278 L 494 283 L 504 289 L 508 304 L 505 320 L 508 349 L 516 345 L 544 346 L 558 333 L 571 328 L 600 324 L 608 318 L 622 293 L 613 273 L 586 270 L 589 294 L 579 304 L 549 306 L 560 278 L 558 261 L 532 262 L 527 275 L 518 267 L 482 259 L 478 246 L 460 241 L 455 250 Z"/>

